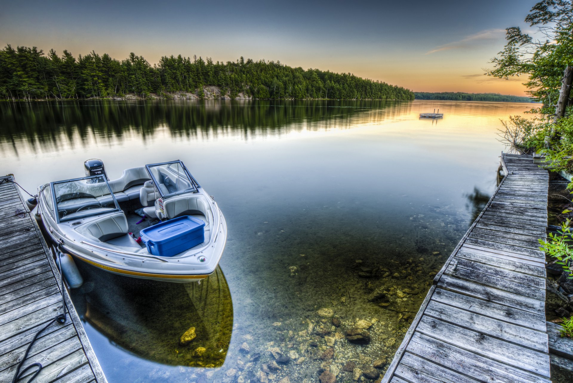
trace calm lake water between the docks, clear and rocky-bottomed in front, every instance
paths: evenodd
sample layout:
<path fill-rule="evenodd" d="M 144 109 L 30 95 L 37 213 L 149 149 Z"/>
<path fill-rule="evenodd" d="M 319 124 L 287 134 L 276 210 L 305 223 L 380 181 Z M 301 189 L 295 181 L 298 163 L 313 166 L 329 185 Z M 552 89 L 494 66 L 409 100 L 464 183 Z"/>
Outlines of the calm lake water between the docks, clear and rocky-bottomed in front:
<path fill-rule="evenodd" d="M 444 119 L 418 119 L 438 107 Z M 83 176 L 88 158 L 102 159 L 111 179 L 181 159 L 223 210 L 221 269 L 201 286 L 82 267 L 74 304 L 110 382 L 258 382 L 261 371 L 275 382 L 314 382 L 332 343 L 323 368 L 350 381 L 348 361 L 390 361 L 435 272 L 496 186 L 499 119 L 531 107 L 0 104 L 0 173 L 33 192 Z M 386 298 L 368 300 L 377 289 Z M 371 342 L 355 345 L 344 331 L 362 319 L 372 323 Z M 197 339 L 180 346 L 191 326 Z M 291 361 L 269 369 L 269 349 Z"/>

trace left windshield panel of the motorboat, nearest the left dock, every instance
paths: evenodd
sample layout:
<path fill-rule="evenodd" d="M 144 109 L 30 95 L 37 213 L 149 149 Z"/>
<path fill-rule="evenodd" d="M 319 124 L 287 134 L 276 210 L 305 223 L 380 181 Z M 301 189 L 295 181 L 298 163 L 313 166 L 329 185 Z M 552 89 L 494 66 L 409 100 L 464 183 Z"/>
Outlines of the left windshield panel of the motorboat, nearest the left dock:
<path fill-rule="evenodd" d="M 103 175 L 52 182 L 58 222 L 119 210 Z"/>

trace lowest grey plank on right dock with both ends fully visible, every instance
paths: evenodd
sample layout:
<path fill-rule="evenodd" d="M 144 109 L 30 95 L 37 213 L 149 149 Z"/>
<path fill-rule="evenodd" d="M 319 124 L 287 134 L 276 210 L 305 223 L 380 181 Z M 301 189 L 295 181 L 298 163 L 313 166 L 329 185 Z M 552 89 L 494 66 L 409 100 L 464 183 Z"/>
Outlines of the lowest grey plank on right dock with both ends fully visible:
<path fill-rule="evenodd" d="M 501 341 L 476 331 L 450 325 L 450 323 L 428 316 L 422 316 L 416 331 L 494 361 L 516 366 L 544 377 L 550 376 L 548 354 Z M 516 355 L 519 355 L 519 357 L 516 357 Z"/>

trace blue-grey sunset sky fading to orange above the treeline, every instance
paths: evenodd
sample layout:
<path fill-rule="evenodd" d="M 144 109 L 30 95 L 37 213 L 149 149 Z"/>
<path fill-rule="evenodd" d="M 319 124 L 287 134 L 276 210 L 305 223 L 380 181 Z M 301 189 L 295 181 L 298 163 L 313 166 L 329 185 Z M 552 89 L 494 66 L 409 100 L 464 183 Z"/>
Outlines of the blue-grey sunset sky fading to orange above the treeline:
<path fill-rule="evenodd" d="M 530 27 L 537 0 L 7 1 L 0 44 L 213 61 L 273 60 L 350 72 L 419 92 L 525 95 L 527 79 L 484 76 L 505 28 Z"/>

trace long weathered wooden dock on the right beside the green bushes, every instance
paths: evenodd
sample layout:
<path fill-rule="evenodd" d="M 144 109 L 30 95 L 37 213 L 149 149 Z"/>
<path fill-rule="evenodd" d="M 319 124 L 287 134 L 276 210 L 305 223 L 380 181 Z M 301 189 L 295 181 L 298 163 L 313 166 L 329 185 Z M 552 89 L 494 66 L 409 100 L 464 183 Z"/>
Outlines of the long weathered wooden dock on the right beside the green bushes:
<path fill-rule="evenodd" d="M 505 177 L 434 279 L 384 383 L 550 383 L 548 173 L 502 154 Z"/>

